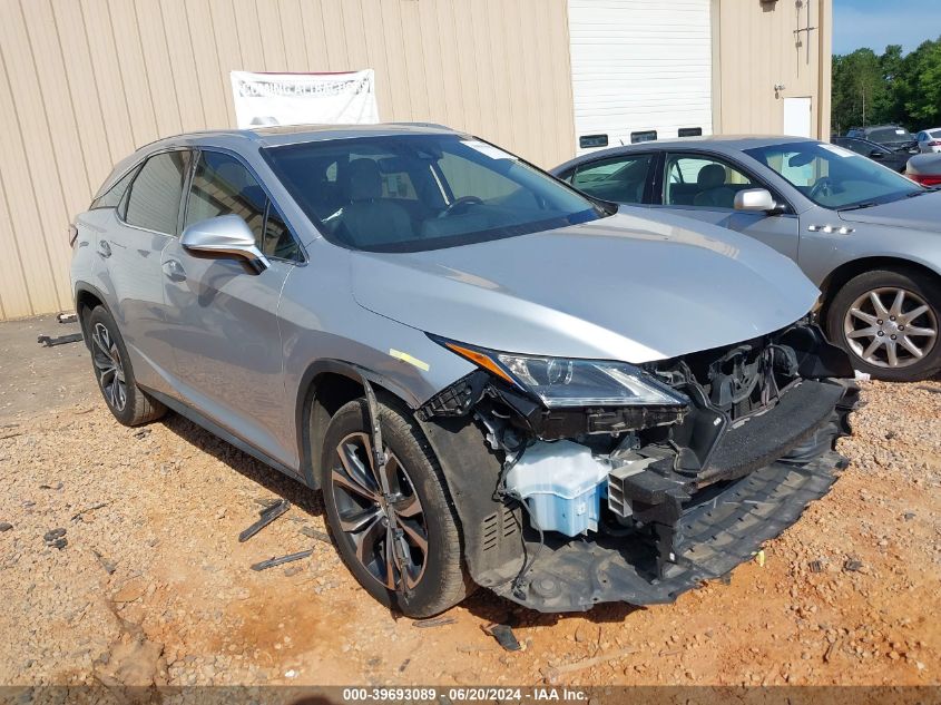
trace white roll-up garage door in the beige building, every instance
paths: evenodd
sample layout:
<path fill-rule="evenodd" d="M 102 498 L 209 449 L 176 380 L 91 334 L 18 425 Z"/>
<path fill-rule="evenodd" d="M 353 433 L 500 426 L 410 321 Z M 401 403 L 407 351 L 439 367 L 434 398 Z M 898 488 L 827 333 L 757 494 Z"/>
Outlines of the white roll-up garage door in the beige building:
<path fill-rule="evenodd" d="M 605 136 L 616 146 L 712 134 L 709 0 L 568 6 L 579 154 Z"/>

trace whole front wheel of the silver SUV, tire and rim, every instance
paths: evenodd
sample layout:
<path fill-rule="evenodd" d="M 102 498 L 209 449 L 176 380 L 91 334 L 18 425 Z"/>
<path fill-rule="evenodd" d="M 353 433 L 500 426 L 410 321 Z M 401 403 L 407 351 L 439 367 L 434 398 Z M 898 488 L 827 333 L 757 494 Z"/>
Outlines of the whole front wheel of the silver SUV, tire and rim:
<path fill-rule="evenodd" d="M 327 526 L 370 595 L 410 617 L 430 617 L 469 591 L 457 516 L 438 460 L 408 412 L 380 402 L 379 419 L 384 478 L 375 469 L 365 400 L 330 421 L 320 466 Z"/>

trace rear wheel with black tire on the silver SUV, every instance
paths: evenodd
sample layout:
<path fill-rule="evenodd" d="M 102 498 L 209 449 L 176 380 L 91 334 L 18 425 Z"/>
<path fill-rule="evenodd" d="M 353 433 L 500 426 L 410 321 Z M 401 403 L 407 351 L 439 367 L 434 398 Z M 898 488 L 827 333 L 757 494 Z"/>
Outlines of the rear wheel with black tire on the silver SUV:
<path fill-rule="evenodd" d="M 91 350 L 91 369 L 98 389 L 115 419 L 125 425 L 140 425 L 163 417 L 167 408 L 137 386 L 118 324 L 107 309 L 96 306 L 88 314 L 85 334 Z M 106 347 L 110 354 L 106 354 Z M 115 376 L 107 366 L 112 362 L 117 362 L 117 370 L 124 374 L 122 393 L 115 386 Z"/>

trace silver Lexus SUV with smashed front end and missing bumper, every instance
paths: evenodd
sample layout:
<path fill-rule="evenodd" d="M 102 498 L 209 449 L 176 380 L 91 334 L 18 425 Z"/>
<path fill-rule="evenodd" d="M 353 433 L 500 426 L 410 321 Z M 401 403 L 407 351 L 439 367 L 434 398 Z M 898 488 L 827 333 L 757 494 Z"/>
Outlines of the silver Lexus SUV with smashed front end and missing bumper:
<path fill-rule="evenodd" d="M 822 496 L 849 360 L 744 235 L 592 202 L 430 126 L 262 128 L 125 159 L 71 228 L 108 408 L 167 408 L 324 495 L 412 616 L 669 601 Z"/>

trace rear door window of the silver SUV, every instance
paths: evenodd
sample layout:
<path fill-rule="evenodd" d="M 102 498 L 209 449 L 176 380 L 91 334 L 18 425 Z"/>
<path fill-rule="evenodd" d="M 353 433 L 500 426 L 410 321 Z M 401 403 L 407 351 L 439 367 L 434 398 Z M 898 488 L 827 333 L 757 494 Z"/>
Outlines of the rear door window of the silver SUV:
<path fill-rule="evenodd" d="M 188 151 L 168 151 L 147 159 L 130 186 L 125 209 L 128 225 L 176 235 Z"/>

